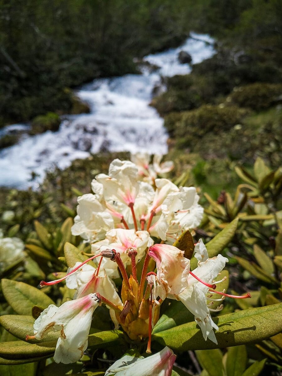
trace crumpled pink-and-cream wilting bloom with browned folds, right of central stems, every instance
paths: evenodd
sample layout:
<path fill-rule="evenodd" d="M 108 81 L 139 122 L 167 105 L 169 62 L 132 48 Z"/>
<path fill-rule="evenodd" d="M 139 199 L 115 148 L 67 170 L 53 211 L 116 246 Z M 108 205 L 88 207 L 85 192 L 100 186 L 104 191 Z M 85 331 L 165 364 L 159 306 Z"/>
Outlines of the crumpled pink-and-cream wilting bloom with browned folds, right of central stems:
<path fill-rule="evenodd" d="M 157 264 L 158 293 L 163 300 L 168 295 L 180 294 L 187 286 L 190 260 L 183 255 L 183 251 L 168 244 L 154 244 L 149 248 L 149 256 Z"/>

